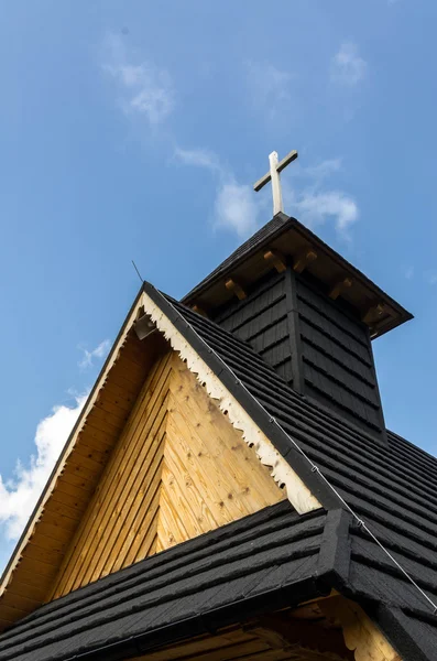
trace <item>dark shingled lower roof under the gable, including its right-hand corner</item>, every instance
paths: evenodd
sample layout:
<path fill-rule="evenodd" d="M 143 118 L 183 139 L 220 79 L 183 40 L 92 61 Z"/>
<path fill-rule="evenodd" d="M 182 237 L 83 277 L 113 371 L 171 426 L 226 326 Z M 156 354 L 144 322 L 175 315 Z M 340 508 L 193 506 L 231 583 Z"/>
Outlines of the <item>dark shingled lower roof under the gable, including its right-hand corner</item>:
<path fill-rule="evenodd" d="M 298 516 L 284 501 L 41 607 L 0 638 L 0 660 L 121 660 L 337 588 L 370 613 L 383 592 L 389 639 L 431 661 L 437 628 L 384 565 L 345 510 Z"/>

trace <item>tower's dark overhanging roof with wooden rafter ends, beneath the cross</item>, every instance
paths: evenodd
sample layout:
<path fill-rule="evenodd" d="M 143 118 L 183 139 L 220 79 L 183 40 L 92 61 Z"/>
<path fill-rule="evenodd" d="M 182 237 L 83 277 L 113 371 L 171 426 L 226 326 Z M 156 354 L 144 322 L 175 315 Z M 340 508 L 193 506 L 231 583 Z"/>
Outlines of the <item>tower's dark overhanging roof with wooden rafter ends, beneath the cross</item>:
<path fill-rule="evenodd" d="M 273 261 L 272 261 L 273 258 Z M 274 261 L 293 260 L 294 269 L 315 278 L 330 297 L 342 301 L 370 328 L 372 338 L 413 318 L 402 305 L 327 246 L 296 218 L 276 214 L 197 284 L 182 302 L 210 310 L 232 297 L 231 280 L 242 290 L 265 275 Z"/>

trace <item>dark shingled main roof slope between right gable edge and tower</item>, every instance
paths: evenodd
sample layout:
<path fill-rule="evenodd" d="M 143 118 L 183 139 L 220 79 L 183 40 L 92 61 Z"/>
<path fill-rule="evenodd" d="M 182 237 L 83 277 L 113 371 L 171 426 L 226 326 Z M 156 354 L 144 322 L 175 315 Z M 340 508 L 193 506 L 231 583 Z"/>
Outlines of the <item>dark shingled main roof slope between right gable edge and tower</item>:
<path fill-rule="evenodd" d="M 437 603 L 437 459 L 391 432 L 387 432 L 387 446 L 381 446 L 343 419 L 330 415 L 293 391 L 243 340 L 182 303 L 168 297 L 164 300 L 156 290 L 153 293 L 153 288 L 146 285 L 146 291 L 156 301 L 161 300 L 170 315 L 173 312 L 185 319 L 186 325 L 179 325 L 182 333 L 197 345 L 205 361 L 219 373 L 323 506 L 332 509 L 341 503 L 324 480 L 310 472 L 308 464 L 303 465 L 303 458 L 288 436 L 317 464 L 390 553 Z M 205 350 L 205 346 L 221 358 L 231 370 L 230 375 L 226 373 L 221 361 L 215 360 L 214 353 Z M 233 375 L 252 397 L 236 383 Z M 285 433 L 272 429 L 272 418 Z M 362 586 L 362 593 L 372 594 L 382 604 L 391 604 L 390 595 L 395 593 L 395 603 L 411 617 L 414 614 L 420 618 L 433 615 L 430 605 L 405 581 L 393 562 L 369 543 L 363 539 L 352 544 L 352 557 L 356 554 L 367 564 L 365 576 L 372 576 L 367 578 L 368 585 Z M 354 589 L 360 592 L 364 574 L 357 573 L 356 578 Z M 436 617 L 430 620 L 433 631 L 437 632 Z M 437 659 L 437 652 L 430 658 Z"/>

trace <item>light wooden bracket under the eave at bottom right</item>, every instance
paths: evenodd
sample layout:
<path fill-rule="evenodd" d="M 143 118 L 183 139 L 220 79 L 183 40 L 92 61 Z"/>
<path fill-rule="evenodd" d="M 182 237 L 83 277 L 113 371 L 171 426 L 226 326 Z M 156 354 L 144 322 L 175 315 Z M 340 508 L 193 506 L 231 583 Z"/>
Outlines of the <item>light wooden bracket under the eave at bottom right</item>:
<path fill-rule="evenodd" d="M 338 596 L 320 602 L 326 617 L 339 621 L 346 646 L 354 652 L 356 661 L 402 661 L 385 636 L 365 615 L 362 608 Z"/>

